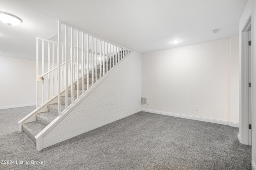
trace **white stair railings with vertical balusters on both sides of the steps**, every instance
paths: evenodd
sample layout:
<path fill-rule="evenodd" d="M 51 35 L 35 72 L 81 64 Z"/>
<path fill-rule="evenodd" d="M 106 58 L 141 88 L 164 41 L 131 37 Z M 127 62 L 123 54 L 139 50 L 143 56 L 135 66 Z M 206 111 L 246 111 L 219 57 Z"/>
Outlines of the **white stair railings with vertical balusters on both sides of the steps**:
<path fill-rule="evenodd" d="M 61 116 L 130 52 L 59 21 L 58 42 L 37 38 L 37 108 L 58 96 Z M 61 97 L 65 107 L 61 106 Z"/>

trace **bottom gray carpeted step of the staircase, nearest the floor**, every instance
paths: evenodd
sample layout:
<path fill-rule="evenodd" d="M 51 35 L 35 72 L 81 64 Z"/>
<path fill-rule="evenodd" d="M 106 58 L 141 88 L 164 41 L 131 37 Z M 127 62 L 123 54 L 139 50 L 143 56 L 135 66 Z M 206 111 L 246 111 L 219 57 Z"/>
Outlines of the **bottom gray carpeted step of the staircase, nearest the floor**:
<path fill-rule="evenodd" d="M 46 125 L 41 124 L 37 121 L 29 122 L 29 123 L 24 123 L 22 125 L 23 132 L 28 136 L 28 138 L 36 144 L 36 138 L 35 136 L 42 131 Z"/>

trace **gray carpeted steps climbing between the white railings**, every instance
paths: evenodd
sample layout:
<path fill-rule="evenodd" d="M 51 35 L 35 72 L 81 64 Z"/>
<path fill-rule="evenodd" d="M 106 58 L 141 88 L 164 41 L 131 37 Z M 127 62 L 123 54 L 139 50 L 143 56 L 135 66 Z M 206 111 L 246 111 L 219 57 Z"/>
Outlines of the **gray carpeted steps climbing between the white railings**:
<path fill-rule="evenodd" d="M 124 55 L 125 56 L 125 55 Z M 114 57 L 112 57 L 111 63 L 116 61 L 116 55 L 114 55 Z M 117 63 L 119 61 L 116 61 Z M 108 66 L 108 69 L 107 69 Z M 105 70 L 104 70 L 105 68 Z M 105 62 L 105 66 L 103 67 L 102 65 L 102 72 L 100 75 L 100 69 L 97 69 L 97 79 L 99 80 L 100 76 L 103 76 L 104 74 L 106 74 L 107 70 L 110 70 L 110 60 L 108 60 L 108 64 L 107 61 Z M 92 73 L 89 74 L 89 87 L 92 86 L 92 79 L 93 79 L 93 83 L 96 83 L 96 70 L 94 70 L 94 78 L 92 78 Z M 87 78 L 84 79 L 84 82 L 87 82 Z M 74 84 L 74 100 L 77 99 L 77 90 L 78 90 L 78 86 L 77 83 Z M 87 90 L 87 83 L 84 84 L 84 92 Z M 83 91 L 83 86 L 82 86 L 82 80 L 80 80 L 80 84 L 79 84 L 79 96 L 82 95 L 82 91 Z M 63 111 L 65 109 L 65 104 L 66 104 L 66 96 L 61 96 L 60 98 L 60 104 L 61 104 L 61 111 Z M 72 97 L 71 97 L 71 90 L 68 90 L 68 106 L 72 103 Z M 58 117 L 59 113 L 58 113 L 58 103 L 55 104 L 48 104 L 47 106 L 48 111 L 46 112 L 41 112 L 41 113 L 36 113 L 36 121 L 32 121 L 32 122 L 28 122 L 28 123 L 24 123 L 22 124 L 22 129 L 23 132 L 28 136 L 28 138 L 34 143 L 36 144 L 36 139 L 35 136 L 40 133 L 47 125 L 49 125 L 54 119 L 56 119 L 56 117 Z"/>

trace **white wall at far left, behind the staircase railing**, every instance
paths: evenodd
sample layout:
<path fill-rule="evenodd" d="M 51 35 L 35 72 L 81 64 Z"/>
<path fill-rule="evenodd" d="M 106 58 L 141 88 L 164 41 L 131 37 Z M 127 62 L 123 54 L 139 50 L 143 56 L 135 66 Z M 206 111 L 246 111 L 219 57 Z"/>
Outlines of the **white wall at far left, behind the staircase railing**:
<path fill-rule="evenodd" d="M 36 105 L 36 61 L 0 56 L 0 109 Z"/>

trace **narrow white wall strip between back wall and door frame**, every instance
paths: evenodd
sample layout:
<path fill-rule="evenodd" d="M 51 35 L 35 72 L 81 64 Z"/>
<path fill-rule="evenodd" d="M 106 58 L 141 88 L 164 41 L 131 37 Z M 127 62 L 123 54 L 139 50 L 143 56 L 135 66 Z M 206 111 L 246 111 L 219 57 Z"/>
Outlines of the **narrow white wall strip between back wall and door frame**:
<path fill-rule="evenodd" d="M 239 123 L 239 35 L 230 37 L 229 121 Z"/>

